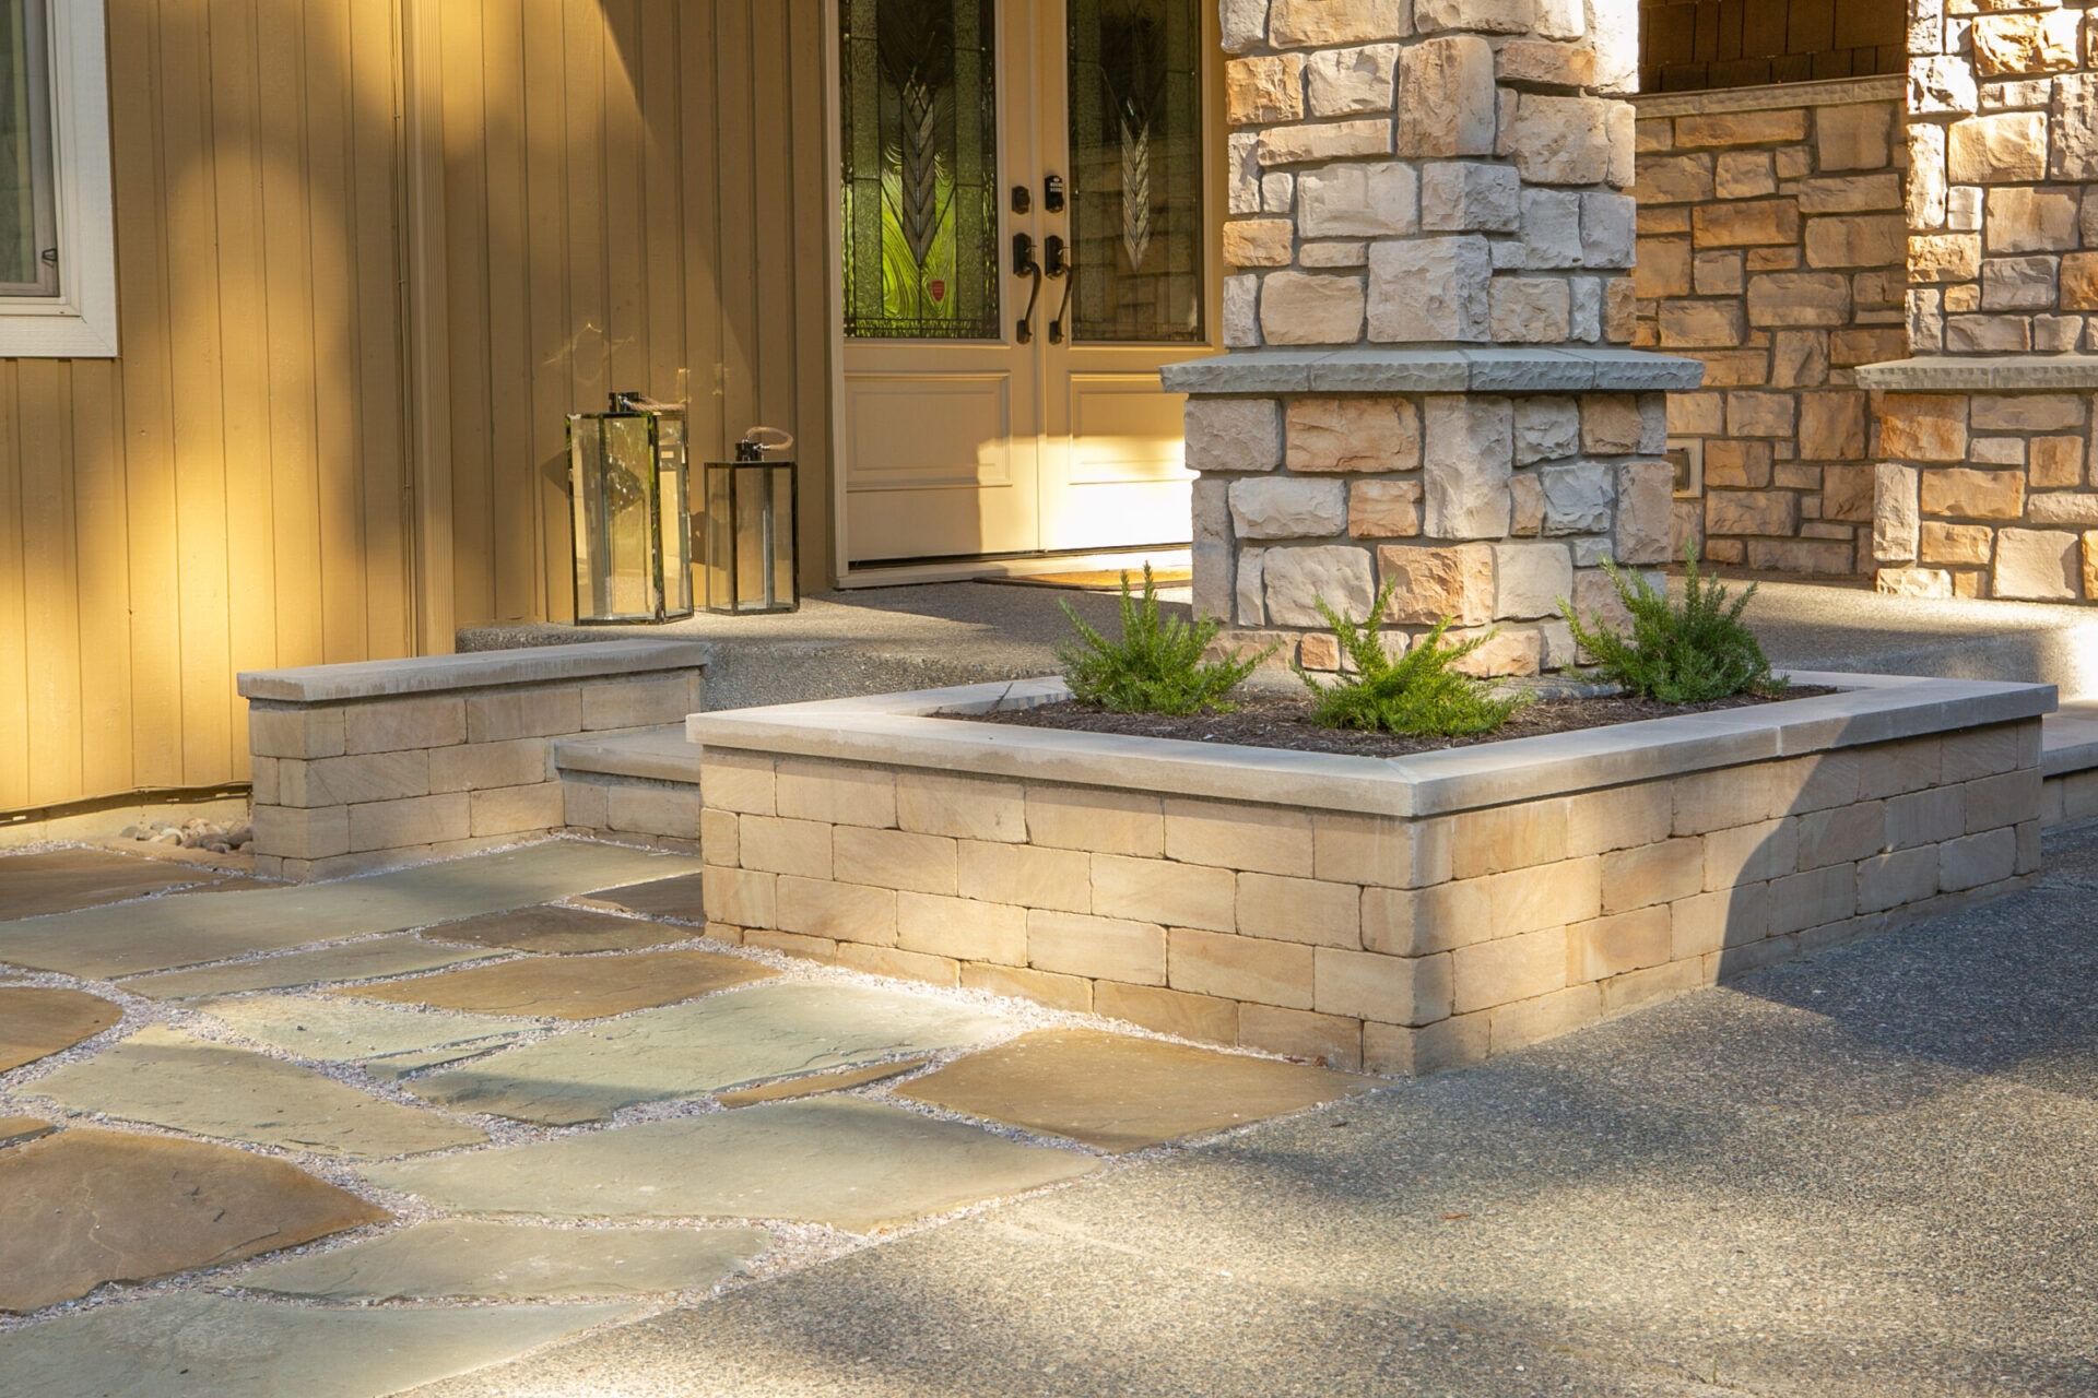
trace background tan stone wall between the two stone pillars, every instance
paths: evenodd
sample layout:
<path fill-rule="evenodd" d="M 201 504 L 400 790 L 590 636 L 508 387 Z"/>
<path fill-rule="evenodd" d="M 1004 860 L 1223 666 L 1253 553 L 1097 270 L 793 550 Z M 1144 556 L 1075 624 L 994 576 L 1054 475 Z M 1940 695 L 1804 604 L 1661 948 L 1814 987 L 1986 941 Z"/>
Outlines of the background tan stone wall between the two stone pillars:
<path fill-rule="evenodd" d="M 1773 572 L 1871 570 L 1855 371 L 1907 354 L 1899 78 L 1636 99 L 1639 331 L 1706 365 L 1668 400 L 1701 463 L 1676 539 Z"/>

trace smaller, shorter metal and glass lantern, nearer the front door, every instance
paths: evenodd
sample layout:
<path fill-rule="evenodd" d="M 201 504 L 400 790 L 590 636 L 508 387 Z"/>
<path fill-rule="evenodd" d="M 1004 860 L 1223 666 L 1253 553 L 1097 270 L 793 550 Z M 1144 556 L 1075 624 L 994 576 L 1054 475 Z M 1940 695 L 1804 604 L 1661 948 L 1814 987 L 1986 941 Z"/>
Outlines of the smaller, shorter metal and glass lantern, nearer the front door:
<path fill-rule="evenodd" d="M 778 428 L 751 428 L 734 461 L 707 463 L 707 610 L 793 612 L 793 528 L 799 499 L 793 461 L 766 453 L 793 451 Z"/>

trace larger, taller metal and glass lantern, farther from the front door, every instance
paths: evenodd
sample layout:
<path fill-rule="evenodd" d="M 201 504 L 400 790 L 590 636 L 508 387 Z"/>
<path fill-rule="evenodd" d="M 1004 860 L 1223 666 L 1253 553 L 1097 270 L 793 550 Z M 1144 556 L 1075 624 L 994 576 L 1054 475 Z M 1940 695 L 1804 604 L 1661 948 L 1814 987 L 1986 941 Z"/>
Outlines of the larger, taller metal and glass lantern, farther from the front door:
<path fill-rule="evenodd" d="M 575 620 L 692 614 L 684 409 L 613 394 L 606 413 L 569 415 Z"/>

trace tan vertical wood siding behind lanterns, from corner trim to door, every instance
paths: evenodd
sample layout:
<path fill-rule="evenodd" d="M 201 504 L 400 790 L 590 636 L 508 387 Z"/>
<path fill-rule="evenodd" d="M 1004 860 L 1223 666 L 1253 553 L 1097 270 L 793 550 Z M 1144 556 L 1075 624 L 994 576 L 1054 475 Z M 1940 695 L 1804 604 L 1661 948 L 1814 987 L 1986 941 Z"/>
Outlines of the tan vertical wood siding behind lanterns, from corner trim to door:
<path fill-rule="evenodd" d="M 793 432 L 820 585 L 835 2 L 476 0 L 436 23 L 457 618 L 573 616 L 564 417 L 611 390 L 690 398 L 694 467 L 753 423 Z"/>

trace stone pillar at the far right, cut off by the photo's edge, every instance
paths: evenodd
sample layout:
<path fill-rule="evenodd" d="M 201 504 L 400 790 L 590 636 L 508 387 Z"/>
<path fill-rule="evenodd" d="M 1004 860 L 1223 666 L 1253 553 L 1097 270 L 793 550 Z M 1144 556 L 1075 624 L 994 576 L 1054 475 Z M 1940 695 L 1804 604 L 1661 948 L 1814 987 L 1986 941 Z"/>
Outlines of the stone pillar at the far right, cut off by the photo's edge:
<path fill-rule="evenodd" d="M 1909 0 L 1911 358 L 1859 369 L 1878 583 L 2098 602 L 2098 21 L 1993 10 Z"/>

